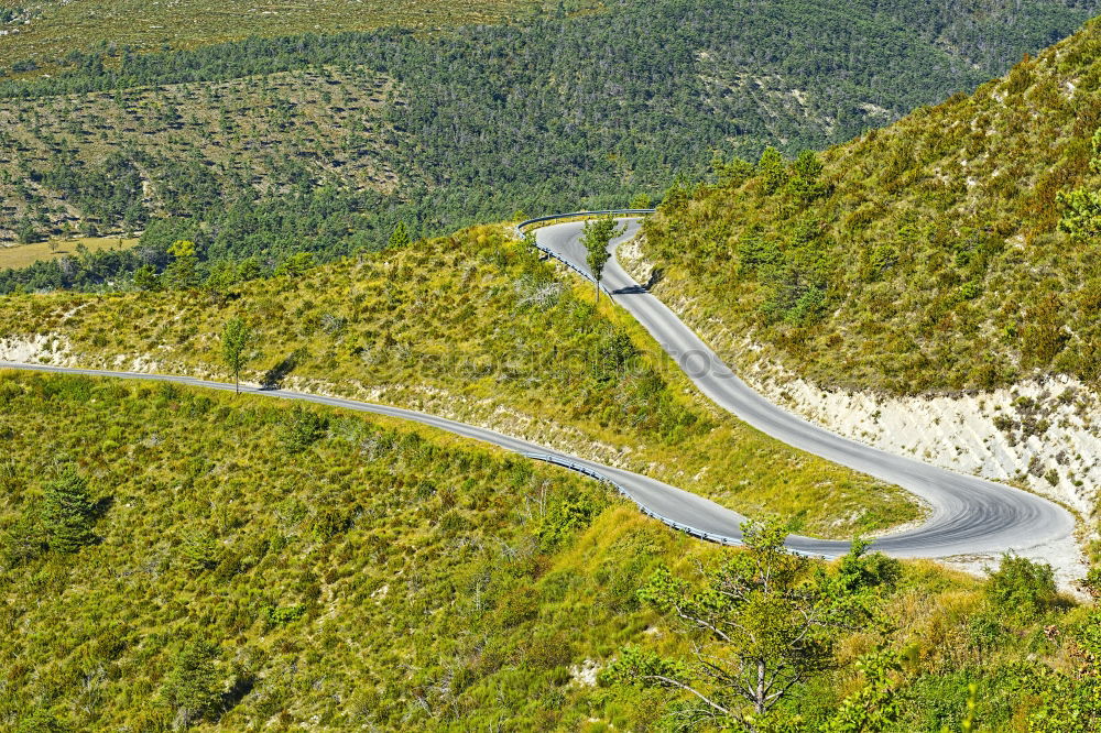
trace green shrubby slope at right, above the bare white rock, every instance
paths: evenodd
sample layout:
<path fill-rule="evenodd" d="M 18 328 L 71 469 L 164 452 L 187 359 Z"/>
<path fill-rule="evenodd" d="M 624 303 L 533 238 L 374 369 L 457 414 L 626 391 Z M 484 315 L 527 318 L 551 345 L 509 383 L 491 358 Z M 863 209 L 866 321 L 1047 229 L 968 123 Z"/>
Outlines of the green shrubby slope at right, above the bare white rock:
<path fill-rule="evenodd" d="M 687 293 L 682 310 L 732 358 L 754 358 L 728 340 L 749 335 L 824 385 L 1095 381 L 1101 256 L 1057 230 L 1055 196 L 1101 183 L 1088 166 L 1099 48 L 1090 23 L 971 97 L 830 149 L 832 193 L 809 205 L 783 186 L 768 195 L 761 178 L 699 188 L 648 229 L 645 254 L 667 267 L 657 294 Z M 777 271 L 746 272 L 754 230 L 783 254 Z M 822 317 L 785 311 L 816 277 L 828 282 Z"/>

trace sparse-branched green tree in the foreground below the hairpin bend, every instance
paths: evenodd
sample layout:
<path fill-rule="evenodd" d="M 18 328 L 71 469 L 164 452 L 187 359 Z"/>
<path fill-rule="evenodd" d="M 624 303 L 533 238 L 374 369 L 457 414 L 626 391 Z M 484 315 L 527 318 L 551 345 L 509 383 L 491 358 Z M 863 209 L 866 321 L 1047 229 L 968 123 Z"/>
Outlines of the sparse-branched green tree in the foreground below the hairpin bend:
<path fill-rule="evenodd" d="M 873 617 L 881 564 L 862 561 L 868 545 L 857 541 L 842 571 L 830 573 L 788 553 L 776 523 L 748 523 L 743 535 L 745 549 L 727 555 L 701 586 L 662 568 L 639 592 L 693 638 L 694 659 L 624 655 L 607 681 L 679 690 L 697 701 L 685 711 L 695 722 L 759 731 L 792 690 L 836 666 L 837 639 Z"/>

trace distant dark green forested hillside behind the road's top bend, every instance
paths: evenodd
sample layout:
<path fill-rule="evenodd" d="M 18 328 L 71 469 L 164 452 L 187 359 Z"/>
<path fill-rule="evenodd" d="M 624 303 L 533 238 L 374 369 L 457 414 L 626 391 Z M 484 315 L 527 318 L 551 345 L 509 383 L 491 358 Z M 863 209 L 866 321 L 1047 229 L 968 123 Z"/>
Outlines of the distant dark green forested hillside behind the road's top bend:
<path fill-rule="evenodd" d="M 0 84 L 0 237 L 152 233 L 0 292 L 163 266 L 166 229 L 203 259 L 275 264 L 383 247 L 399 221 L 415 238 L 657 198 L 716 151 L 817 149 L 970 89 L 1093 9 L 658 0 L 433 36 L 74 51 Z"/>

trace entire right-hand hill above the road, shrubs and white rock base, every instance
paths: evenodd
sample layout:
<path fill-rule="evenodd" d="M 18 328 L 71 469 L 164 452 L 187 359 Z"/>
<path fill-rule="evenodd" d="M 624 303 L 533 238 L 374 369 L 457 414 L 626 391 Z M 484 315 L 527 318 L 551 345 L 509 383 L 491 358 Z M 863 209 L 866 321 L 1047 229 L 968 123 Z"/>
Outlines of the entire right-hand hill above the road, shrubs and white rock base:
<path fill-rule="evenodd" d="M 674 192 L 624 259 L 663 270 L 655 293 L 794 409 L 1089 510 L 1099 48 L 1091 23 L 817 160 L 722 164 L 718 184 Z"/>

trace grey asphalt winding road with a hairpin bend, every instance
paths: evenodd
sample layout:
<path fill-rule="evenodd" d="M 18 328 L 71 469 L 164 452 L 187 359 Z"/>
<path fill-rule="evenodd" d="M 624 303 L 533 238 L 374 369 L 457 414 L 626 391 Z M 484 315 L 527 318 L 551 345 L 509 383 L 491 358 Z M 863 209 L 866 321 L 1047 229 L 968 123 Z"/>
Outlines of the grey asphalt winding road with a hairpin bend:
<path fill-rule="evenodd" d="M 633 218 L 621 221 L 625 225 L 626 231 L 612 242 L 613 258 L 606 266 L 602 284 L 615 303 L 639 319 L 704 394 L 749 425 L 785 444 L 897 484 L 929 504 L 931 514 L 922 526 L 881 537 L 875 540 L 875 549 L 896 557 L 926 558 L 990 555 L 1006 550 L 1026 553 L 1048 543 L 1064 540 L 1072 534 L 1075 523 L 1070 513 L 1039 496 L 870 448 L 829 433 L 767 402 L 719 361 L 691 329 L 664 304 L 623 271 L 614 259 L 614 248 L 637 232 L 640 221 Z M 581 222 L 543 227 L 535 232 L 536 243 L 541 249 L 570 263 L 582 274 L 587 273 L 585 250 L 580 243 L 581 227 Z M 214 390 L 233 390 L 232 384 L 165 374 L 13 362 L 0 362 L 0 368 L 152 380 Z M 355 400 L 286 390 L 242 387 L 241 391 L 428 425 L 607 479 L 637 503 L 644 512 L 678 529 L 720 541 L 738 541 L 741 537 L 739 525 L 745 517 L 701 496 L 637 473 L 568 456 L 494 430 Z M 793 535 L 788 538 L 787 546 L 807 555 L 837 557 L 848 551 L 849 543 Z"/>

